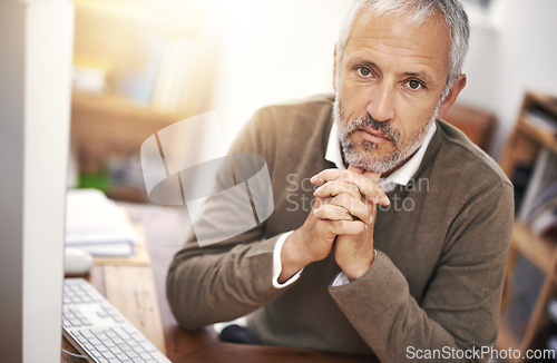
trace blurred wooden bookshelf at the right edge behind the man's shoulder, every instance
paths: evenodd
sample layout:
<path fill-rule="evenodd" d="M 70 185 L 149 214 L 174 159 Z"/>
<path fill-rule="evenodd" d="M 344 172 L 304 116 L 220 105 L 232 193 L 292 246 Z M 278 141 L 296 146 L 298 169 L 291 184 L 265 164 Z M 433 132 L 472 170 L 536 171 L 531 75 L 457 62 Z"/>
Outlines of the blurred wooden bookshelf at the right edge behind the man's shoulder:
<path fill-rule="evenodd" d="M 496 345 L 546 350 L 557 337 L 557 310 L 550 308 L 557 297 L 556 97 L 525 95 L 500 165 L 515 186 L 516 219 Z"/>

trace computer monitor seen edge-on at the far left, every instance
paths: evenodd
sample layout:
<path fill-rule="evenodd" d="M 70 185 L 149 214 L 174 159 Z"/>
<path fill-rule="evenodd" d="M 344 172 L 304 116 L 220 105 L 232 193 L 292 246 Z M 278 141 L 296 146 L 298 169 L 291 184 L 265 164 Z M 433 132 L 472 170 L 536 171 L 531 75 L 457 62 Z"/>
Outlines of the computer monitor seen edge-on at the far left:
<path fill-rule="evenodd" d="M 0 362 L 60 362 L 74 7 L 0 1 Z"/>

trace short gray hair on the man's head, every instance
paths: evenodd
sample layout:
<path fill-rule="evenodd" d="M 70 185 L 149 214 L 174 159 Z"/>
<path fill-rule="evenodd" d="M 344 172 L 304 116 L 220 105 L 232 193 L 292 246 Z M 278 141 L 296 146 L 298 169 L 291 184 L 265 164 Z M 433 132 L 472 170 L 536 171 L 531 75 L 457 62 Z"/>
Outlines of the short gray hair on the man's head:
<path fill-rule="evenodd" d="M 355 0 L 344 19 L 339 42 L 336 43 L 336 65 L 339 69 L 354 21 L 364 8 L 371 10 L 375 16 L 383 13 L 403 16 L 416 24 L 421 24 L 436 13 L 443 17 L 451 35 L 448 77 L 441 96 L 441 98 L 444 98 L 449 94 L 452 84 L 460 77 L 468 51 L 470 27 L 462 4 L 458 0 Z M 338 76 L 340 76 L 340 72 Z M 339 80 L 340 77 L 338 77 Z"/>

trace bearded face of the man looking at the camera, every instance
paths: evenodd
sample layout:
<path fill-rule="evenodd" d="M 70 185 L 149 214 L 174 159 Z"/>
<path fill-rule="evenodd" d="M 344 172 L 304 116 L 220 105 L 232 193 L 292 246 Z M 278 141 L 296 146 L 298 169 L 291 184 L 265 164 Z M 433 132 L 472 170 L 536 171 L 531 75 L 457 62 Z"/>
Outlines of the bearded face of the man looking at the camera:
<path fill-rule="evenodd" d="M 335 121 L 349 164 L 392 171 L 418 149 L 440 106 L 449 46 L 439 16 L 416 26 L 359 14 L 335 65 Z"/>

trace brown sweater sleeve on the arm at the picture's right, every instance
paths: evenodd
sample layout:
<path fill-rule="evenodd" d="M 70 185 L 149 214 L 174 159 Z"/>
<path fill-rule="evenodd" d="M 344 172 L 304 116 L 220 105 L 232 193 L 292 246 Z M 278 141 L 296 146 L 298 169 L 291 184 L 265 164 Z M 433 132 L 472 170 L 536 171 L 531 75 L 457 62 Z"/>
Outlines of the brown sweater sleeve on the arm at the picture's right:
<path fill-rule="evenodd" d="M 468 204 L 420 303 L 381 252 L 363 276 L 329 292 L 382 362 L 482 362 L 497 337 L 512 210 L 508 183 Z"/>

